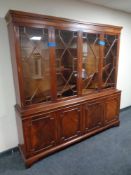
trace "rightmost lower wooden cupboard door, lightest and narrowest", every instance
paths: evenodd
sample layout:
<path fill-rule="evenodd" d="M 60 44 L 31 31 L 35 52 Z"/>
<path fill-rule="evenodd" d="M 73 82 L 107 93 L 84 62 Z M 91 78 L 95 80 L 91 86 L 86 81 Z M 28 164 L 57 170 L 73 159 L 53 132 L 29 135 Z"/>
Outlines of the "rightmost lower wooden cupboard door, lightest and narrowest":
<path fill-rule="evenodd" d="M 118 120 L 119 117 L 119 96 L 108 99 L 105 103 L 105 124 Z"/>

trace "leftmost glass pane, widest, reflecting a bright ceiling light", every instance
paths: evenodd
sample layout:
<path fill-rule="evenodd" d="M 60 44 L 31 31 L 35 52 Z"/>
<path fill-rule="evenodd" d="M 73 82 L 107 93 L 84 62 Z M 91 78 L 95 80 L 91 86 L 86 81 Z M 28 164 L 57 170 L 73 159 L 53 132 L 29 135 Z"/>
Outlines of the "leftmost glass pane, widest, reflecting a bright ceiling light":
<path fill-rule="evenodd" d="M 50 101 L 48 30 L 20 27 L 19 33 L 25 102 Z"/>

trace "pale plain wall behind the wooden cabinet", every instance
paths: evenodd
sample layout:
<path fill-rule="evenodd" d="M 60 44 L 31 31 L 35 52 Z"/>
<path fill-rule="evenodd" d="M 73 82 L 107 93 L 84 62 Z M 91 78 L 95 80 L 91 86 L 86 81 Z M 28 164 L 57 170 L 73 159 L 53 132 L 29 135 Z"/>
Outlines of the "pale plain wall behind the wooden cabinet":
<path fill-rule="evenodd" d="M 8 9 L 123 26 L 117 86 L 122 90 L 121 108 L 131 105 L 131 15 L 71 0 L 0 0 L 0 152 L 18 144 L 9 42 L 3 19 Z"/>

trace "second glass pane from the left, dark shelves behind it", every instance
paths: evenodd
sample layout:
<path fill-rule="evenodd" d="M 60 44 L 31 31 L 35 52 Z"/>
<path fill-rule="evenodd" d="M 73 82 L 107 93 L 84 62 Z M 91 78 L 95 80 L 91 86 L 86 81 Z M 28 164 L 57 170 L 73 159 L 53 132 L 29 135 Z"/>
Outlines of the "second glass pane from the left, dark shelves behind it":
<path fill-rule="evenodd" d="M 77 32 L 56 30 L 57 97 L 77 94 Z"/>

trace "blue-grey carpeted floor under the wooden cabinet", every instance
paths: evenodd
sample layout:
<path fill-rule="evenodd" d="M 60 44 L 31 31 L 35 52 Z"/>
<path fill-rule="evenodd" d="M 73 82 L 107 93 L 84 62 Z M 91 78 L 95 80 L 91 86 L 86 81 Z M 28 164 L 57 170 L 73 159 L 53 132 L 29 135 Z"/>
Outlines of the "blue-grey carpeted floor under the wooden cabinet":
<path fill-rule="evenodd" d="M 25 169 L 19 152 L 0 157 L 0 175 L 131 175 L 131 108 L 108 129 Z"/>

